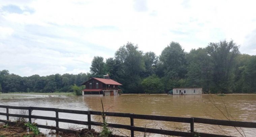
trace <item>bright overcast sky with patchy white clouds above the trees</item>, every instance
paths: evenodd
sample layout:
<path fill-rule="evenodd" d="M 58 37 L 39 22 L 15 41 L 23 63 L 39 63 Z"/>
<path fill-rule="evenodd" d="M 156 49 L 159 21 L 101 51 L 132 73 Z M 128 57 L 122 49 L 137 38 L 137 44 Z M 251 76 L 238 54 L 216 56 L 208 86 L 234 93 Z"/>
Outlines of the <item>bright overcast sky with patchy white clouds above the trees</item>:
<path fill-rule="evenodd" d="M 0 0 L 0 70 L 21 76 L 89 72 L 127 41 L 160 55 L 233 39 L 256 55 L 254 0 Z"/>

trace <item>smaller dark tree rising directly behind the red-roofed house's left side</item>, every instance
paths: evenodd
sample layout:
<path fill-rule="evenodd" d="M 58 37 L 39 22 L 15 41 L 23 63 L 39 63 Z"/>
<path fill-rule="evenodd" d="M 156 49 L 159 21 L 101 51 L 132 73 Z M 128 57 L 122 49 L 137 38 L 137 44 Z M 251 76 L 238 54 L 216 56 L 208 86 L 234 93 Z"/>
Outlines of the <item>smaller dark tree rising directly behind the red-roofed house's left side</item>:
<path fill-rule="evenodd" d="M 99 56 L 95 56 L 92 60 L 92 65 L 90 67 L 90 72 L 92 73 L 92 75 L 94 76 L 101 76 L 105 74 L 104 72 L 104 58 L 103 57 L 99 57 Z"/>

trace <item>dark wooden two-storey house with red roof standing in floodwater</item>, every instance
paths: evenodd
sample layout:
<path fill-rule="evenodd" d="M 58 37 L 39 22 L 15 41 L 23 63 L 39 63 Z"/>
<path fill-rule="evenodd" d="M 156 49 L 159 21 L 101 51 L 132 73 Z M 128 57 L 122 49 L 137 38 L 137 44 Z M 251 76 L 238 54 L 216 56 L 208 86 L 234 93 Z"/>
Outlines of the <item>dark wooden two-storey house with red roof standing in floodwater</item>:
<path fill-rule="evenodd" d="M 84 82 L 85 89 L 82 91 L 83 96 L 117 96 L 118 86 L 122 85 L 115 80 L 109 79 L 109 75 L 104 75 L 104 78 L 92 77 Z"/>

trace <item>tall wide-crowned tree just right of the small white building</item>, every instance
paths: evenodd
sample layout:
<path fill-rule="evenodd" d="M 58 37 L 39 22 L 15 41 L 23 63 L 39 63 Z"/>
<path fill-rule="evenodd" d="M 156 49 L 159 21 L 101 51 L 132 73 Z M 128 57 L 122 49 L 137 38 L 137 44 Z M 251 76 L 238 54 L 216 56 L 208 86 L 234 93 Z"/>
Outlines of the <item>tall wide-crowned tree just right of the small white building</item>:
<path fill-rule="evenodd" d="M 215 87 L 213 92 L 231 93 L 234 89 L 234 59 L 239 54 L 237 46 L 233 40 L 226 40 L 218 43 L 210 43 L 206 49 L 212 57 L 214 64 L 213 82 Z"/>

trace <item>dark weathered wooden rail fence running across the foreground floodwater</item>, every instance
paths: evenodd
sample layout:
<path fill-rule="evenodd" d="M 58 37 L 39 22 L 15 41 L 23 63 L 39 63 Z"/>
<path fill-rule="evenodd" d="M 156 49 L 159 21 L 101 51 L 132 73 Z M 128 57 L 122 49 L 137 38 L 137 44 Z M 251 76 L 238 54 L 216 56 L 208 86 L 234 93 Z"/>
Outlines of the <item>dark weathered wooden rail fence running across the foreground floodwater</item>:
<path fill-rule="evenodd" d="M 0 122 L 11 123 L 9 121 L 10 116 L 28 118 L 29 122 L 31 122 L 31 118 L 52 120 L 52 121 L 56 121 L 56 126 L 55 127 L 54 126 L 46 126 L 46 125 L 37 125 L 37 127 L 45 128 L 45 129 L 53 129 L 53 130 L 56 130 L 56 132 L 76 133 L 76 131 L 74 131 L 74 130 L 59 128 L 59 122 L 87 125 L 88 129 L 91 129 L 92 125 L 93 126 L 102 126 L 102 124 L 103 124 L 103 123 L 100 123 L 100 122 L 91 121 L 91 115 L 102 115 L 102 112 L 99 112 L 99 111 L 69 110 L 69 109 L 45 108 L 45 107 L 20 107 L 20 106 L 6 106 L 6 105 L 0 105 L 0 108 L 6 108 L 6 113 L 0 112 L 0 115 L 5 115 L 6 116 L 6 120 L 0 119 Z M 9 109 L 28 110 L 28 115 L 10 114 Z M 32 113 L 31 113 L 32 110 L 55 111 L 56 115 L 55 115 L 55 117 L 32 115 Z M 73 114 L 85 114 L 85 115 L 87 115 L 87 121 L 62 119 L 62 118 L 59 118 L 59 112 L 61 112 L 61 113 L 73 113 Z M 163 134 L 163 135 L 183 136 L 183 137 L 193 137 L 194 134 L 199 134 L 201 137 L 230 137 L 230 136 L 224 136 L 224 135 L 194 132 L 194 123 L 220 125 L 220 126 L 231 126 L 231 127 L 256 128 L 256 122 L 240 122 L 240 121 L 226 121 L 226 120 L 197 118 L 197 117 L 186 118 L 186 117 L 141 115 L 141 114 L 114 113 L 114 112 L 105 112 L 105 115 L 106 116 L 117 116 L 117 117 L 130 118 L 130 122 L 131 122 L 130 125 L 121 125 L 121 124 L 108 123 L 108 127 L 130 130 L 131 131 L 131 137 L 134 137 L 134 131 L 154 133 L 154 134 Z M 147 119 L 147 120 L 155 120 L 155 121 L 190 123 L 190 132 L 152 129 L 152 128 L 145 128 L 145 127 L 135 127 L 134 126 L 134 119 Z"/>

